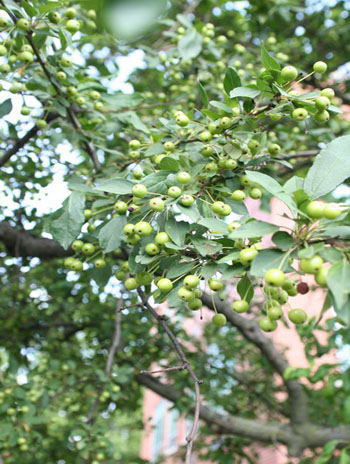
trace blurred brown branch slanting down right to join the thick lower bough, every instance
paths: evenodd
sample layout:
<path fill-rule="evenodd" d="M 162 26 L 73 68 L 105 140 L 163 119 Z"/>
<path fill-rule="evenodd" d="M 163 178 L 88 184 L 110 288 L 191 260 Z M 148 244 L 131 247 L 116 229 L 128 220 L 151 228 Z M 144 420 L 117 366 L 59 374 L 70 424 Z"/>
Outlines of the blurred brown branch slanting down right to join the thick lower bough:
<path fill-rule="evenodd" d="M 205 306 L 214 310 L 214 304 L 210 295 L 205 293 L 202 300 Z M 292 424 L 299 426 L 300 424 L 306 423 L 308 421 L 308 412 L 305 392 L 302 385 L 296 380 L 284 379 L 283 373 L 288 367 L 288 363 L 283 355 L 275 348 L 271 340 L 263 334 L 258 324 L 254 321 L 239 316 L 237 313 L 232 311 L 228 304 L 218 300 L 217 298 L 215 299 L 215 305 L 217 310 L 220 313 L 225 314 L 227 320 L 235 326 L 247 340 L 251 341 L 259 348 L 273 369 L 282 378 L 288 391 Z"/>

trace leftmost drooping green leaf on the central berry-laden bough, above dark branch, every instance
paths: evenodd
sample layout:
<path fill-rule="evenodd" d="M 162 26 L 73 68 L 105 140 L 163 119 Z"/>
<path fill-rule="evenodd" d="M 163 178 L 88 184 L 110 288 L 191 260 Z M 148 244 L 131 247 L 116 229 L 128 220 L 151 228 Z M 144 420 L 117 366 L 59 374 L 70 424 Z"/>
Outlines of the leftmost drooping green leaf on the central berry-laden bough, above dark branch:
<path fill-rule="evenodd" d="M 64 201 L 62 214 L 50 224 L 50 232 L 64 249 L 79 235 L 84 217 L 85 195 L 72 192 Z"/>

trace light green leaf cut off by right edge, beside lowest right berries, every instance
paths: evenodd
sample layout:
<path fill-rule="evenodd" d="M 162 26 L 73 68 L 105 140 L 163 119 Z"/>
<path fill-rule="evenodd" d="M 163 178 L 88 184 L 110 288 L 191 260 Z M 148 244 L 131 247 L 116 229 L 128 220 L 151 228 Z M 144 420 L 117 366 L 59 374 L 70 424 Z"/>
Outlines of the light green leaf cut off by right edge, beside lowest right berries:
<path fill-rule="evenodd" d="M 348 261 L 342 260 L 329 268 L 327 285 L 332 292 L 336 307 L 342 308 L 350 294 L 350 263 Z"/>

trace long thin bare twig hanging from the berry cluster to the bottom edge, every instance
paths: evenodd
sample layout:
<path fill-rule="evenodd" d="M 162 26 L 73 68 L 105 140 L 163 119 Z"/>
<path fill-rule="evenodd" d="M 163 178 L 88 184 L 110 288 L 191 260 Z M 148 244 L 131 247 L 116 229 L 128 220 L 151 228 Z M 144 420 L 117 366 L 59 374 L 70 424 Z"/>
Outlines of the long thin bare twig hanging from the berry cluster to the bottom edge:
<path fill-rule="evenodd" d="M 182 350 L 182 348 L 180 346 L 179 341 L 175 337 L 172 330 L 168 327 L 165 318 L 163 316 L 160 316 L 157 313 L 157 311 L 149 304 L 145 293 L 140 288 L 137 290 L 137 292 L 138 292 L 144 306 L 148 309 L 148 311 L 151 313 L 151 315 L 157 320 L 159 325 L 162 327 L 164 332 L 168 335 L 168 337 L 169 337 L 171 343 L 173 344 L 173 346 L 175 348 L 175 351 L 178 354 L 182 364 L 185 366 L 185 369 L 187 370 L 187 372 L 189 373 L 189 375 L 191 376 L 191 378 L 192 378 L 192 380 L 194 382 L 195 396 L 196 396 L 195 410 L 194 410 L 194 418 L 193 418 L 192 428 L 191 428 L 190 433 L 186 437 L 187 449 L 186 449 L 186 460 L 185 460 L 185 464 L 191 464 L 192 448 L 193 448 L 193 443 L 194 443 L 194 439 L 195 439 L 195 436 L 196 436 L 196 432 L 197 432 L 197 428 L 198 428 L 198 421 L 199 421 L 199 410 L 200 410 L 200 402 L 201 402 L 199 385 L 200 385 L 201 381 L 198 379 L 196 373 L 192 369 L 192 366 L 188 362 L 188 360 L 186 358 L 186 355 L 185 355 L 184 351 Z"/>

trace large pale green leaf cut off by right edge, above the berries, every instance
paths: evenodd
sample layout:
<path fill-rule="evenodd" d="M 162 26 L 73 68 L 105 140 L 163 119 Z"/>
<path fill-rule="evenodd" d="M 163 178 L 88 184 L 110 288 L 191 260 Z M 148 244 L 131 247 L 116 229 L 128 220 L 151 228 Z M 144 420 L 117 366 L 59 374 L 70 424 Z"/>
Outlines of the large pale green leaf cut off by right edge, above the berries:
<path fill-rule="evenodd" d="M 350 135 L 330 142 L 316 156 L 305 179 L 305 191 L 311 199 L 332 192 L 350 177 Z"/>

